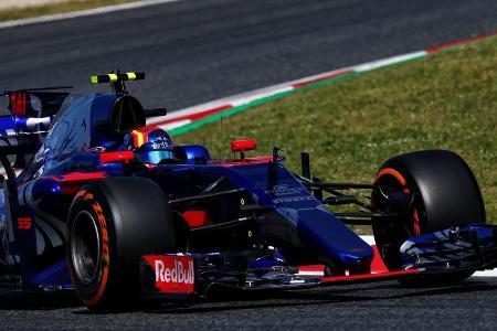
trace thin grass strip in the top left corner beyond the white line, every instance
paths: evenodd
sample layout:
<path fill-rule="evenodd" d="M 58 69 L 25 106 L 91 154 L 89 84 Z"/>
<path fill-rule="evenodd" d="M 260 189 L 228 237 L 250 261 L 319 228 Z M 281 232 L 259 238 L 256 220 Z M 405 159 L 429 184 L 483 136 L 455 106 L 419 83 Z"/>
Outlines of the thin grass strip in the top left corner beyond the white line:
<path fill-rule="evenodd" d="M 20 0 L 22 1 L 22 0 Z M 103 6 L 136 2 L 136 0 L 67 0 L 66 2 L 0 10 L 0 21 L 10 21 L 41 15 L 93 9 Z"/>

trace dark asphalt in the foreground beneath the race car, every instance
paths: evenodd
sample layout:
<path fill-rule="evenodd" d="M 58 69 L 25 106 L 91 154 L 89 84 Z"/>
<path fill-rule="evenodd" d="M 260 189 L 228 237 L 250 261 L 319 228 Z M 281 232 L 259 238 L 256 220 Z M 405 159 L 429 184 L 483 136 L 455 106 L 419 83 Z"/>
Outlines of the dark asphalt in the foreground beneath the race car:
<path fill-rule="evenodd" d="M 402 289 L 388 281 L 264 296 L 233 293 L 231 299 L 114 314 L 92 314 L 72 296 L 0 293 L 0 302 L 2 329 L 495 330 L 497 279 L 472 278 L 450 288 Z"/>

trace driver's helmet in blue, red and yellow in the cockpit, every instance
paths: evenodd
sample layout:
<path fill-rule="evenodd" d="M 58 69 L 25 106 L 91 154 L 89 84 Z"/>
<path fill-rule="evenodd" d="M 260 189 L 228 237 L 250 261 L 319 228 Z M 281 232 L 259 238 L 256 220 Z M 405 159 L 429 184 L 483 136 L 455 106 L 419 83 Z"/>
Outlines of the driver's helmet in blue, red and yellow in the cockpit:
<path fill-rule="evenodd" d="M 133 130 L 126 139 L 125 148 L 134 150 L 136 158 L 144 163 L 159 164 L 162 160 L 175 158 L 171 137 L 157 126 Z"/>

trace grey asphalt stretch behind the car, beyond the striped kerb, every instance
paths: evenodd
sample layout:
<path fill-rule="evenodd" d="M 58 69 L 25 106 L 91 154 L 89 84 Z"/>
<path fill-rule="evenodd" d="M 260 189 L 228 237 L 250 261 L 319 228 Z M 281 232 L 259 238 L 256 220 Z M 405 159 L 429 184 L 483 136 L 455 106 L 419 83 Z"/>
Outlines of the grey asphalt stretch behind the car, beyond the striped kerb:
<path fill-rule="evenodd" d="M 146 71 L 130 89 L 178 109 L 496 30 L 495 0 L 183 0 L 0 30 L 0 88 Z"/>

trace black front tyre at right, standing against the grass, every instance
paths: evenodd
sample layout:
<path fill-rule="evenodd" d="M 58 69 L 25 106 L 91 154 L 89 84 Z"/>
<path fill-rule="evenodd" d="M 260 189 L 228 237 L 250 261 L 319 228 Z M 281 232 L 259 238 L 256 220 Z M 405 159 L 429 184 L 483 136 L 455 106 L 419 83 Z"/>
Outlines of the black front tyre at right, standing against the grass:
<path fill-rule="evenodd" d="M 399 199 L 388 200 L 385 195 Z M 472 170 L 459 156 L 447 150 L 415 151 L 388 160 L 374 178 L 371 200 L 373 212 L 402 214 L 372 220 L 376 244 L 391 270 L 401 267 L 399 249 L 409 237 L 468 223 L 485 223 L 484 202 Z M 435 275 L 404 284 L 448 284 L 464 280 L 472 274 Z"/>

